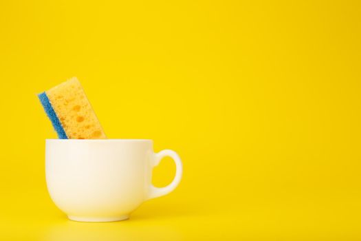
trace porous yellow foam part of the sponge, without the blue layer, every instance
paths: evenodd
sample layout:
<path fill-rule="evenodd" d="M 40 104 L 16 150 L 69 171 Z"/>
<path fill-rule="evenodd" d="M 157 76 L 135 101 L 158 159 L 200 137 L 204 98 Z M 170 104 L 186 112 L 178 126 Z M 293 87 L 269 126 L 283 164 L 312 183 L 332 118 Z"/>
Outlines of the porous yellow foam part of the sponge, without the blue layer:
<path fill-rule="evenodd" d="M 94 109 L 76 77 L 46 91 L 69 139 L 105 139 Z"/>

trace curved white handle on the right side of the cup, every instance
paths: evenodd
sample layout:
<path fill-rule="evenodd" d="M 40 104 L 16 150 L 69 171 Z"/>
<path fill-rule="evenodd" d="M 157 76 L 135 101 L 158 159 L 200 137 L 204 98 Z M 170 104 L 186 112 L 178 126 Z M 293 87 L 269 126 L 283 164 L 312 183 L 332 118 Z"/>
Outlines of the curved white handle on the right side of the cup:
<path fill-rule="evenodd" d="M 160 196 L 164 196 L 168 193 L 170 193 L 171 191 L 173 191 L 178 185 L 180 180 L 182 179 L 182 173 L 183 173 L 183 165 L 182 165 L 182 160 L 179 158 L 178 154 L 175 151 L 172 150 L 163 150 L 160 151 L 156 154 L 154 154 L 155 158 L 153 159 L 153 165 L 152 165 L 152 169 L 153 167 L 156 167 L 157 165 L 160 164 L 160 160 L 162 160 L 162 158 L 169 156 L 171 158 L 173 158 L 174 162 L 175 162 L 175 177 L 173 179 L 173 181 L 171 182 L 171 184 L 169 184 L 166 187 L 154 187 L 152 184 L 149 185 L 149 192 L 148 192 L 148 196 L 147 196 L 147 200 L 151 199 L 151 198 L 157 198 Z"/>

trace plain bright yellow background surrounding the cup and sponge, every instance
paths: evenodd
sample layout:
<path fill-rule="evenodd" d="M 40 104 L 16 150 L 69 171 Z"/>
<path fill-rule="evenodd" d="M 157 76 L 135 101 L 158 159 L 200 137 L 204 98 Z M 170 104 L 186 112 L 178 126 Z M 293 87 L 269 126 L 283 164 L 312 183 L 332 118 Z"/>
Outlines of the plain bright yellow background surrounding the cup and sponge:
<path fill-rule="evenodd" d="M 1 240 L 361 240 L 358 1 L 1 1 Z M 71 222 L 36 94 L 77 76 L 108 138 L 184 178 L 131 220 Z M 154 171 L 165 185 L 170 160 Z"/>

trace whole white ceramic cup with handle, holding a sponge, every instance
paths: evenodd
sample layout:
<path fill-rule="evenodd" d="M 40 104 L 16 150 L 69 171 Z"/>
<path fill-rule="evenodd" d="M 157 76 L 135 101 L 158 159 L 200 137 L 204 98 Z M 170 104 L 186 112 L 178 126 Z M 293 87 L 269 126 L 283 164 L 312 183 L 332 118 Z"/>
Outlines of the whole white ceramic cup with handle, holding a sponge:
<path fill-rule="evenodd" d="M 165 156 L 175 161 L 175 178 L 154 187 L 152 169 Z M 48 139 L 45 174 L 52 200 L 70 220 L 111 222 L 173 191 L 182 178 L 182 161 L 175 151 L 155 154 L 152 140 Z"/>

